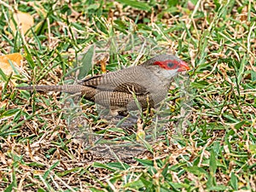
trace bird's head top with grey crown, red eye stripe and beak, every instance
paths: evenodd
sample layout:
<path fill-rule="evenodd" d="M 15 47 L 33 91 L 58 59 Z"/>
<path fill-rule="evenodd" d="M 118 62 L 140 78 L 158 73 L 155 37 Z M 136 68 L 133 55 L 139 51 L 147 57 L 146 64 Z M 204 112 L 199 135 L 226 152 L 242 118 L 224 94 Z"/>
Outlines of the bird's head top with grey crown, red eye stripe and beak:
<path fill-rule="evenodd" d="M 189 70 L 189 65 L 175 55 L 158 55 L 150 59 L 151 65 L 157 65 L 166 70 L 183 72 Z"/>

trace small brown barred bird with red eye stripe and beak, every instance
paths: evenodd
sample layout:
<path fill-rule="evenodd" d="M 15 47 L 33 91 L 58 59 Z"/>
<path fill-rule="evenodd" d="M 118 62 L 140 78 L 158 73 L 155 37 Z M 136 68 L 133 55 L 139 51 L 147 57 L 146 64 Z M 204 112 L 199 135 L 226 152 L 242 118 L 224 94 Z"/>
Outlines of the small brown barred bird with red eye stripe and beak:
<path fill-rule="evenodd" d="M 167 95 L 172 80 L 189 70 L 176 55 L 156 55 L 143 64 L 119 71 L 95 75 L 77 84 L 32 85 L 18 90 L 79 93 L 84 99 L 110 109 L 115 116 L 139 108 L 156 108 Z M 139 104 L 139 105 L 138 105 Z"/>

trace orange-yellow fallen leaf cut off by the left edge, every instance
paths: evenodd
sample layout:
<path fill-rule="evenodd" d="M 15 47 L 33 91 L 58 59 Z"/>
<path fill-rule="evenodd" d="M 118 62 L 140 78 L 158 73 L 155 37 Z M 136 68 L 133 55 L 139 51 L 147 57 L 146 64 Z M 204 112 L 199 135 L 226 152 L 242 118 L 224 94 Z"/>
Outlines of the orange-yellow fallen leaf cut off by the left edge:
<path fill-rule="evenodd" d="M 14 53 L 0 56 L 0 68 L 3 70 L 3 73 L 7 75 L 13 72 L 13 68 L 10 66 L 9 60 L 12 61 L 14 65 L 20 66 L 22 55 L 20 55 L 20 53 Z"/>

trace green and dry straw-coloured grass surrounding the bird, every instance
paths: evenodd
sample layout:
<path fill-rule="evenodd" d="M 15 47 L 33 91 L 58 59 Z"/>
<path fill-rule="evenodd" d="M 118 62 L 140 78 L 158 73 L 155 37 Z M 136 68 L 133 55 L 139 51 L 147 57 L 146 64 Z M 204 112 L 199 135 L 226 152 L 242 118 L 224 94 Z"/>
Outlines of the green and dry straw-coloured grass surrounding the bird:
<path fill-rule="evenodd" d="M 256 191 L 256 4 L 192 2 L 0 1 L 1 53 L 24 56 L 12 76 L 1 73 L 0 188 Z M 16 10 L 34 17 L 26 35 L 9 27 Z M 120 126 L 92 102 L 15 90 L 71 84 L 161 52 L 192 70 L 143 122 Z"/>

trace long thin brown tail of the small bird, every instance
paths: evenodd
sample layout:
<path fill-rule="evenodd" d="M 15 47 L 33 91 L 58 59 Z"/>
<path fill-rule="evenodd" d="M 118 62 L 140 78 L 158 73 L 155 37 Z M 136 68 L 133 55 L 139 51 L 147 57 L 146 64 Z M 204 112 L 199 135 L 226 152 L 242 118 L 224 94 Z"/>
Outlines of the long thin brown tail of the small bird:
<path fill-rule="evenodd" d="M 18 90 L 43 90 L 43 91 L 61 91 L 65 93 L 79 93 L 84 90 L 81 84 L 63 84 L 63 85 L 35 85 L 16 87 Z"/>

